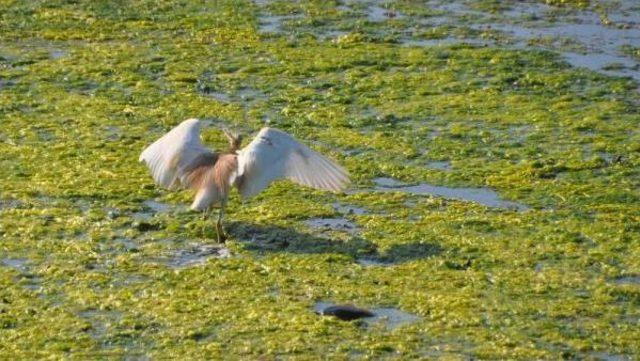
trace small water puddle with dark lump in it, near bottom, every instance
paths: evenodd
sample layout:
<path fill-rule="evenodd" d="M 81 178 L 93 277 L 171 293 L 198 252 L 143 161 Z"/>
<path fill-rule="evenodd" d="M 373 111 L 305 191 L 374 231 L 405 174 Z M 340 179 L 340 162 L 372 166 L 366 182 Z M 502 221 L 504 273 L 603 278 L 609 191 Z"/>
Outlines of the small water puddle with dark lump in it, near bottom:
<path fill-rule="evenodd" d="M 382 326 L 387 331 L 392 331 L 420 320 L 419 316 L 394 307 L 365 309 L 353 305 L 316 302 L 313 309 L 319 315 L 334 316 L 346 321 L 361 319 L 366 326 Z"/>

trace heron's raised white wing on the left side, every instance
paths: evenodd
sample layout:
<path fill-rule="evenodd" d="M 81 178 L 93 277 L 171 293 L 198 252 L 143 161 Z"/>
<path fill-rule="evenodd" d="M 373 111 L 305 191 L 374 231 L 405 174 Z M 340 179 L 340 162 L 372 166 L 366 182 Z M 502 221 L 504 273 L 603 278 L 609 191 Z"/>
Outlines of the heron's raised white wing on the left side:
<path fill-rule="evenodd" d="M 140 154 L 153 179 L 160 186 L 191 187 L 194 174 L 203 166 L 213 166 L 217 155 L 200 143 L 200 121 L 187 119 L 156 140 Z"/>

